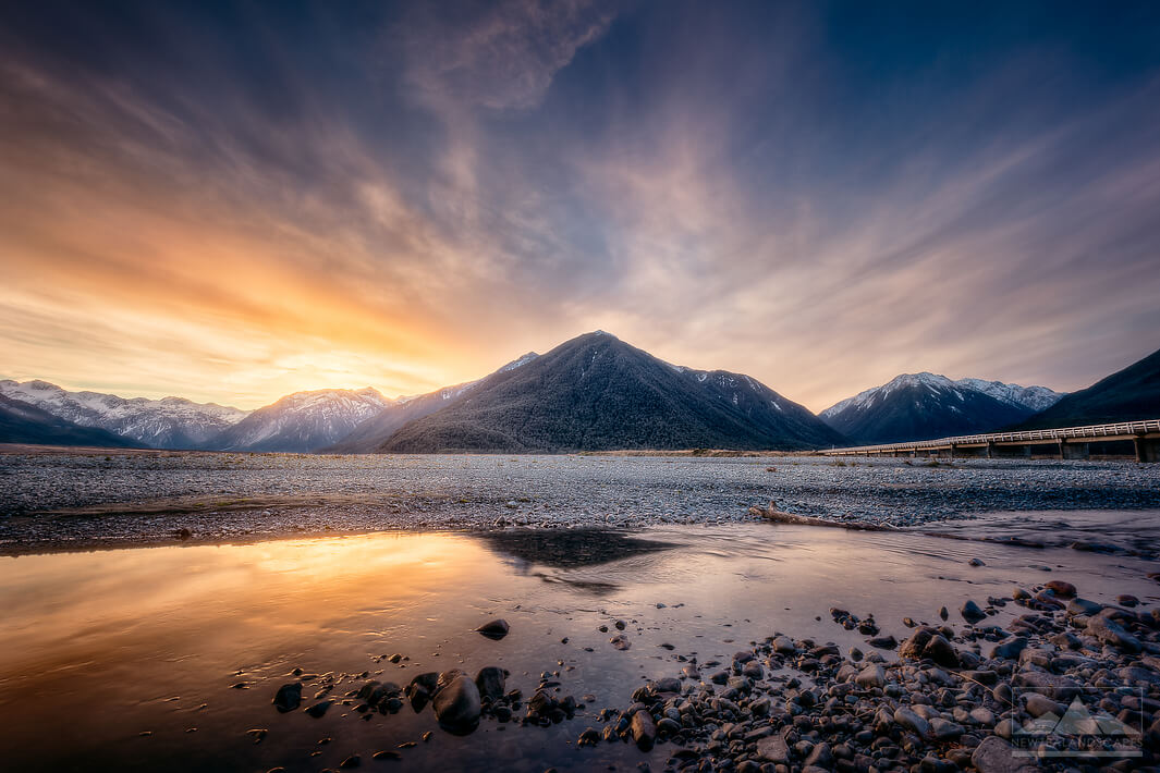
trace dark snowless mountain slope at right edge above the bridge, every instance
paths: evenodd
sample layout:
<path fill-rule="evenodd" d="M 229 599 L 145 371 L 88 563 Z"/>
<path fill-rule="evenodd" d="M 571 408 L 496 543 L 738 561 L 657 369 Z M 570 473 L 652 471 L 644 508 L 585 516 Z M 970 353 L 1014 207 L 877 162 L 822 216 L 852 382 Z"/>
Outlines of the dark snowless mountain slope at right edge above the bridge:
<path fill-rule="evenodd" d="M 1073 392 L 1018 429 L 1049 429 L 1160 418 L 1160 350 Z"/>

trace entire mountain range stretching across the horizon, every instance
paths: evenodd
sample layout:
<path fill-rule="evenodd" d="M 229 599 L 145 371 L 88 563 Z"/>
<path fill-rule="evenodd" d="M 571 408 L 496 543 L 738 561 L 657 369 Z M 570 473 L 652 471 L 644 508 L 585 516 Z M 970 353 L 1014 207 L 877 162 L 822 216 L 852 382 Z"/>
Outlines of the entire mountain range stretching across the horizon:
<path fill-rule="evenodd" d="M 904 374 L 814 416 L 752 377 L 596 331 L 427 394 L 299 392 L 247 411 L 0 380 L 0 443 L 324 453 L 812 449 L 1160 416 L 1160 351 L 1092 387 Z"/>

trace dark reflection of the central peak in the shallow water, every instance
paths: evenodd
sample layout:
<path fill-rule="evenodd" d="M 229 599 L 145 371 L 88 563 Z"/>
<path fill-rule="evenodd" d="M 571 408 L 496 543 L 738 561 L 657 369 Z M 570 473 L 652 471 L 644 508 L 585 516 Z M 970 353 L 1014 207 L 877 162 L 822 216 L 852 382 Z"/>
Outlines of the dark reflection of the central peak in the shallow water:
<path fill-rule="evenodd" d="M 675 545 L 643 540 L 624 532 L 600 528 L 515 530 L 477 535 L 515 569 L 516 574 L 563 583 L 596 595 L 619 588 L 609 575 L 593 576 L 586 568 L 669 550 Z M 535 567 L 549 571 L 537 571 Z M 559 571 L 551 571 L 557 569 Z M 632 573 L 635 574 L 635 573 Z"/>

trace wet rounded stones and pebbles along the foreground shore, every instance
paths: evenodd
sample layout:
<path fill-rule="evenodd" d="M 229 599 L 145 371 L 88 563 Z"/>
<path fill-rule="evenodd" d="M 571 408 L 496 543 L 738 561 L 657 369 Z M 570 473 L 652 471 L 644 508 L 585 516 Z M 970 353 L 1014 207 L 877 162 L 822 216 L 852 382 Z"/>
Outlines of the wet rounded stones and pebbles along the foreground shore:
<path fill-rule="evenodd" d="M 989 622 L 1008 606 L 1021 607 L 1009 623 Z M 673 652 L 679 669 L 625 695 L 622 707 L 578 701 L 559 671 L 544 671 L 525 695 L 496 666 L 474 677 L 459 669 L 423 673 L 405 687 L 371 679 L 342 702 L 363 716 L 430 705 L 438 725 L 459 735 L 481 722 L 521 731 L 582 723 L 578 749 L 560 749 L 561 759 L 574 764 L 583 748 L 629 744 L 641 754 L 667 752 L 667 771 L 1126 772 L 1154 770 L 1160 760 L 1160 610 L 1141 608 L 1133 596 L 1109 605 L 1082 598 L 1065 581 L 1016 586 L 957 612 L 943 607 L 933 622 L 907 618 L 901 642 L 872 615 L 840 608 L 829 615 L 862 634 L 864 647 L 842 651 L 773 632 L 726 662 Z M 601 629 L 610 646 L 628 649 L 623 632 L 631 627 L 616 620 Z M 502 637 L 508 625 L 479 630 Z M 307 713 L 333 702 L 327 677 L 321 684 Z M 275 706 L 297 709 L 302 691 L 302 681 L 283 685 Z M 398 757 L 382 750 L 374 759 Z"/>

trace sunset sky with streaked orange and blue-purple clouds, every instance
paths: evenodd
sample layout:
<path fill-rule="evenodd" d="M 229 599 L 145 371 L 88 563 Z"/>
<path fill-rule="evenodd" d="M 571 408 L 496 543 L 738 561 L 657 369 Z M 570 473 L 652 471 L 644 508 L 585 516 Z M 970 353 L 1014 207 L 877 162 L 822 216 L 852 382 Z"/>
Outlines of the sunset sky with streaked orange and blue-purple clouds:
<path fill-rule="evenodd" d="M 594 329 L 814 411 L 1160 348 L 1160 3 L 0 5 L 0 377 L 254 408 Z"/>

